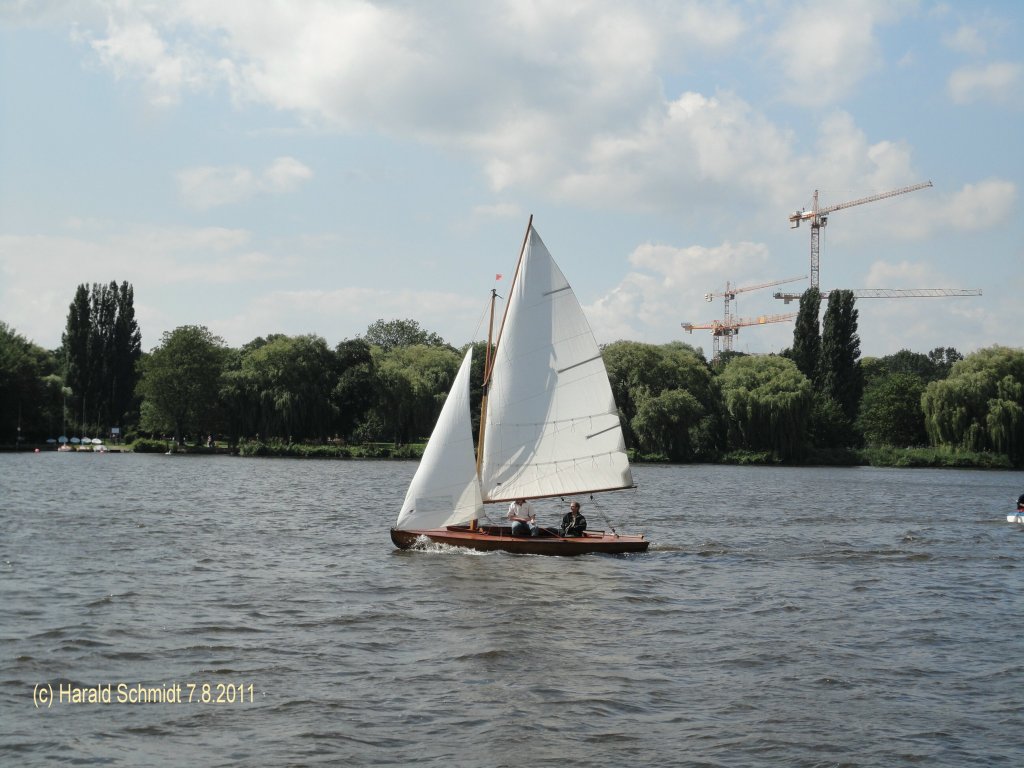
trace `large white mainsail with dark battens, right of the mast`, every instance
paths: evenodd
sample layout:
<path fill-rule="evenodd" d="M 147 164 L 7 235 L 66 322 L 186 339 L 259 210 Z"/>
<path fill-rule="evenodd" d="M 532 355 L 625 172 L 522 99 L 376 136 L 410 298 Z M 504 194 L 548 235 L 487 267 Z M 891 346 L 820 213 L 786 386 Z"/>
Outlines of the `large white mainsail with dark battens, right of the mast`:
<path fill-rule="evenodd" d="M 487 393 L 484 499 L 631 487 L 618 411 L 597 341 L 532 228 L 508 301 Z"/>

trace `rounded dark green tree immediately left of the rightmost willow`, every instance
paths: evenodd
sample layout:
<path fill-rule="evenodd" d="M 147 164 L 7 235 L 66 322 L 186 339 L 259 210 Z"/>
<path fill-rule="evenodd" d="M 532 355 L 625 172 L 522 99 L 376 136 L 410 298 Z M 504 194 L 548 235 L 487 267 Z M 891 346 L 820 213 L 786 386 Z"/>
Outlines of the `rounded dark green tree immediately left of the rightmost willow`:
<path fill-rule="evenodd" d="M 912 373 L 885 374 L 864 387 L 857 427 L 872 445 L 908 447 L 928 441 L 921 410 L 924 380 Z"/>

